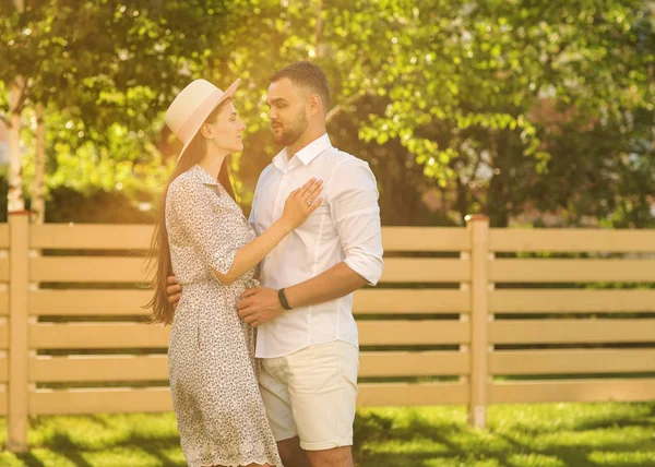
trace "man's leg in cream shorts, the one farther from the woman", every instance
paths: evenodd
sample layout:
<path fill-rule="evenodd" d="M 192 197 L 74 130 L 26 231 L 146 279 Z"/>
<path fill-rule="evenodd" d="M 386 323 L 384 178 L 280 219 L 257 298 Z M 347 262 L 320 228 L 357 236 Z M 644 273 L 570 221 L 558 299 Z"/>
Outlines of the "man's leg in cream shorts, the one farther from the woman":
<path fill-rule="evenodd" d="M 291 414 L 311 467 L 353 467 L 358 349 L 336 340 L 285 360 Z"/>

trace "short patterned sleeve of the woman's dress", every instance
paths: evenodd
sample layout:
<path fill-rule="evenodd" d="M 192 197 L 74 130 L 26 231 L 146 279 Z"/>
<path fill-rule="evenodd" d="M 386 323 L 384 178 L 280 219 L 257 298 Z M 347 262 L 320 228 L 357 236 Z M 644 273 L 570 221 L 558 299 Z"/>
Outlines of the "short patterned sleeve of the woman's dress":
<path fill-rule="evenodd" d="M 168 189 L 166 204 L 205 264 L 227 274 L 239 249 L 230 236 L 230 213 L 222 207 L 218 194 L 195 180 L 178 179 Z"/>

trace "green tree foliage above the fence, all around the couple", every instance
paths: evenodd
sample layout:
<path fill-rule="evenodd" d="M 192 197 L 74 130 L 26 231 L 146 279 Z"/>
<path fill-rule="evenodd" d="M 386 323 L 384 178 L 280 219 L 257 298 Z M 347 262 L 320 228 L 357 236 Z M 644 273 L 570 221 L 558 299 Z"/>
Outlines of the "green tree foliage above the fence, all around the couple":
<path fill-rule="evenodd" d="M 28 76 L 27 107 L 48 105 L 50 187 L 107 190 L 116 165 L 160 181 L 172 96 L 193 77 L 239 76 L 249 136 L 233 164 L 248 204 L 277 151 L 269 76 L 309 59 L 332 85 L 333 141 L 380 180 L 385 224 L 483 212 L 504 226 L 536 209 L 652 225 L 654 51 L 650 0 L 41 0 L 21 15 L 0 3 L 0 82 Z"/>

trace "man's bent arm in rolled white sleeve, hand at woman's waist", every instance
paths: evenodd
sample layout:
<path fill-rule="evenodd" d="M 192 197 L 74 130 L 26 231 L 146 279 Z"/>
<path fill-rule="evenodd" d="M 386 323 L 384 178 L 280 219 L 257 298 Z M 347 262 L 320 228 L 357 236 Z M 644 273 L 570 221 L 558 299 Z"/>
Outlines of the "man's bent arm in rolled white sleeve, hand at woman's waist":
<path fill-rule="evenodd" d="M 380 209 L 372 172 L 366 163 L 354 159 L 332 181 L 334 184 L 326 187 L 326 191 L 332 188 L 332 196 L 326 200 L 346 259 L 309 280 L 285 288 L 291 308 L 335 300 L 367 284 L 376 285 L 382 274 Z M 252 326 L 284 313 L 277 290 L 266 287 L 243 292 L 237 309 Z"/>

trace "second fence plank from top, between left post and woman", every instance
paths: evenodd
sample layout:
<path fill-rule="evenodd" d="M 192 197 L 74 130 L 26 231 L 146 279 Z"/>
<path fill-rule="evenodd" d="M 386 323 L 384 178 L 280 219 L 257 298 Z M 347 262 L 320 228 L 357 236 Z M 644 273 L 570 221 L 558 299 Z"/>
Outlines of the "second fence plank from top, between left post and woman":
<path fill-rule="evenodd" d="M 45 283 L 145 282 L 143 258 L 41 256 L 29 260 L 29 280 Z"/>

